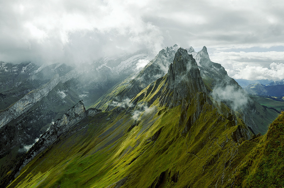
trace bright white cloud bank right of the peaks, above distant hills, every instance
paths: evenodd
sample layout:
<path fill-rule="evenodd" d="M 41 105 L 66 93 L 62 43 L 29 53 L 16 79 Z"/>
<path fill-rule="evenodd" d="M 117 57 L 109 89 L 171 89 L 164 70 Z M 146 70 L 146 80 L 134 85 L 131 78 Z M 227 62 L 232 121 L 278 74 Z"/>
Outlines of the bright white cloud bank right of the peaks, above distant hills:
<path fill-rule="evenodd" d="M 284 72 L 283 51 L 213 52 L 210 59 L 221 63 L 228 75 L 235 79 L 279 80 L 284 78 L 282 76 Z"/>

